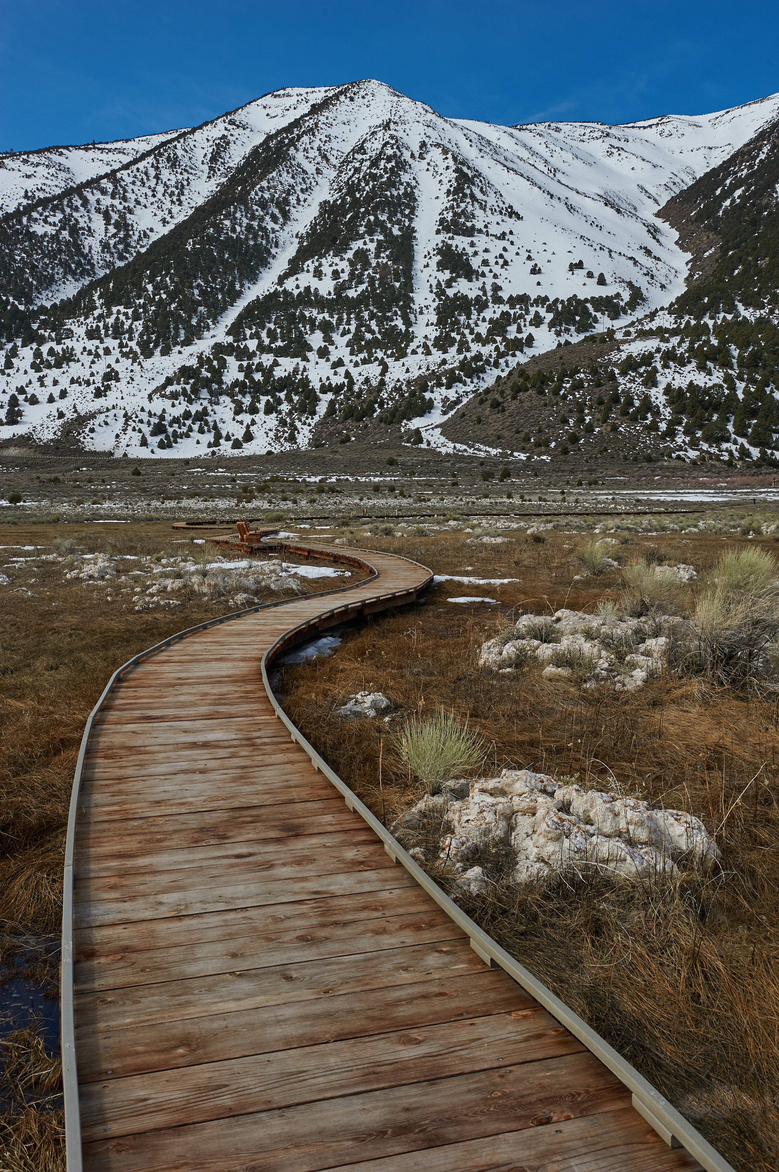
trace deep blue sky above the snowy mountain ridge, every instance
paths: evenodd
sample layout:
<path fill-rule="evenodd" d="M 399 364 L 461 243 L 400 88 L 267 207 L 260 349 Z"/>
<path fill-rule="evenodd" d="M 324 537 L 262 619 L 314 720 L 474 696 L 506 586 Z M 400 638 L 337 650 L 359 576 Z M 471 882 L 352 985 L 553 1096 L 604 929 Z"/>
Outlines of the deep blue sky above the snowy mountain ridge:
<path fill-rule="evenodd" d="M 779 4 L 0 0 L 0 150 L 377 77 L 451 117 L 628 122 L 779 90 Z"/>

